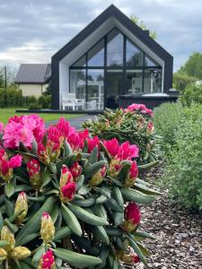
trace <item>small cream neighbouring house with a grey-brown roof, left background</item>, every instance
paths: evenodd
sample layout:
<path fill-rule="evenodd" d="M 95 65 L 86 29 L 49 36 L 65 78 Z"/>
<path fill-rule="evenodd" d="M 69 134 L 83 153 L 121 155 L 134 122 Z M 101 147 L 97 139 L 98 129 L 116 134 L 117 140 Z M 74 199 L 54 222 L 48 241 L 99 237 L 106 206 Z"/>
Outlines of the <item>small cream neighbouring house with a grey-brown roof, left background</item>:
<path fill-rule="evenodd" d="M 51 65 L 22 64 L 14 82 L 22 90 L 22 96 L 40 95 L 46 91 L 51 75 Z"/>

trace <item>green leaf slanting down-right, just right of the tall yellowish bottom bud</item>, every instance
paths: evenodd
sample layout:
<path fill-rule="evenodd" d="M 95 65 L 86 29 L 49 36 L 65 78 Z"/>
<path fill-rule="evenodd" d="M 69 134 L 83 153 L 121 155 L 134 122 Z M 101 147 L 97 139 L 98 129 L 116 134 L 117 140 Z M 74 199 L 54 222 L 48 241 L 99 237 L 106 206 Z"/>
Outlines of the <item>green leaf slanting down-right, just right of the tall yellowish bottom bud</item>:
<path fill-rule="evenodd" d="M 78 236 L 81 236 L 82 228 L 79 221 L 76 219 L 75 214 L 72 213 L 65 204 L 62 204 L 61 206 L 61 213 L 69 229 L 75 232 Z"/>

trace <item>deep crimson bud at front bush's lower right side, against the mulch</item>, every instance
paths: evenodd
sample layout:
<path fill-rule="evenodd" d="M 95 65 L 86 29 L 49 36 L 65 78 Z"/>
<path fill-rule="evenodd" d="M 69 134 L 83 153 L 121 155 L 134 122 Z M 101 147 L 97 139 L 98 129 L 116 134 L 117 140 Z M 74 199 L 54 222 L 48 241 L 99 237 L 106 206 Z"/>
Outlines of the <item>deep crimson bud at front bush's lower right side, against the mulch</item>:
<path fill-rule="evenodd" d="M 127 231 L 133 231 L 140 222 L 140 211 L 136 203 L 129 203 L 124 212 L 125 221 L 122 224 L 122 228 Z"/>

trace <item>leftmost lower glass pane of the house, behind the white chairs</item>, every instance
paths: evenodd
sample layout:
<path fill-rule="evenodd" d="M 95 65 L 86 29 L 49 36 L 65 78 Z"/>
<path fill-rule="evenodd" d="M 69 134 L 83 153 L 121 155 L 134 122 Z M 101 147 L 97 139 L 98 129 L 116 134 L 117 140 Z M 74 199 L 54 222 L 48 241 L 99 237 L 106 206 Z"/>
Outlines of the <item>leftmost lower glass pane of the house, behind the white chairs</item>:
<path fill-rule="evenodd" d="M 70 70 L 70 93 L 75 99 L 85 100 L 85 70 Z"/>

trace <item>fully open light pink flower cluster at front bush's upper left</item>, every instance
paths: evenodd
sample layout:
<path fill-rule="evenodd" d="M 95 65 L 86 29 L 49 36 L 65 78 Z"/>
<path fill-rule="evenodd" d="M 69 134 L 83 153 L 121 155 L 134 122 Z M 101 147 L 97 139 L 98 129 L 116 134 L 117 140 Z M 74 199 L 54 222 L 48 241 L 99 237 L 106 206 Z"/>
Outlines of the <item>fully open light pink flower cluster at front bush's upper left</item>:
<path fill-rule="evenodd" d="M 38 115 L 10 117 L 8 124 L 4 127 L 4 147 L 17 149 L 20 143 L 31 148 L 35 139 L 40 142 L 46 132 L 43 119 Z"/>

